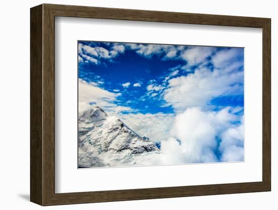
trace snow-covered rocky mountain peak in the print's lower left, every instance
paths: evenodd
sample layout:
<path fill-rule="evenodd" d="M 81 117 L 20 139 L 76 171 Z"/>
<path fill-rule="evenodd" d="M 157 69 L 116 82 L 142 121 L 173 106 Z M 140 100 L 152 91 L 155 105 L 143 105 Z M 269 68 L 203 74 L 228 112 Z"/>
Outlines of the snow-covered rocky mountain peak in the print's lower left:
<path fill-rule="evenodd" d="M 157 146 L 100 107 L 78 116 L 78 167 L 152 165 Z"/>

